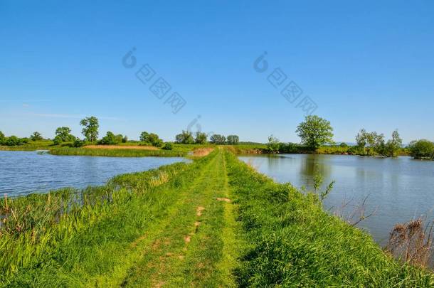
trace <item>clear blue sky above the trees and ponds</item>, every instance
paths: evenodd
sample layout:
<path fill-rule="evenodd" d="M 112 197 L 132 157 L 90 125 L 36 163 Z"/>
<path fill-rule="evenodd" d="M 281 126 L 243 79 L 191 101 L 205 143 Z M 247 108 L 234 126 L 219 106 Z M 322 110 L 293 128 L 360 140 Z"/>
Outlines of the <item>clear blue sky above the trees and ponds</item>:
<path fill-rule="evenodd" d="M 204 132 L 298 142 L 305 112 L 267 80 L 280 68 L 337 141 L 362 127 L 434 140 L 433 1 L 92 2 L 0 1 L 5 134 L 69 126 L 79 136 L 80 118 L 95 115 L 100 134 L 172 140 L 201 115 Z M 269 68 L 258 73 L 264 51 Z M 186 100 L 177 114 L 135 77 L 146 63 Z"/>

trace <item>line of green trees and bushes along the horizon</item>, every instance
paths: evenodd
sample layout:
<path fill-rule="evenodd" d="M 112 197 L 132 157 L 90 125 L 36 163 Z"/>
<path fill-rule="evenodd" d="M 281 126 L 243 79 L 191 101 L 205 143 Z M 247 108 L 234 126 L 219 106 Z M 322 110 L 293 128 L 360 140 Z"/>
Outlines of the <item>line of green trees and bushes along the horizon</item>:
<path fill-rule="evenodd" d="M 55 130 L 53 143 L 55 145 L 68 144 L 70 146 L 80 147 L 86 144 L 101 144 L 101 145 L 116 145 L 129 142 L 128 137 L 122 134 L 107 132 L 104 137 L 98 139 L 98 129 L 100 127 L 97 117 L 85 117 L 80 121 L 83 127 L 82 134 L 84 139 L 80 139 L 71 134 L 69 127 L 58 127 Z M 298 137 L 301 139 L 301 144 L 282 143 L 270 135 L 268 137 L 267 151 L 270 153 L 302 153 L 305 151 L 317 151 L 324 145 L 336 146 L 333 141 L 333 128 L 327 119 L 317 115 L 309 115 L 301 122 L 295 130 Z M 19 138 L 16 136 L 6 137 L 0 131 L 0 145 L 18 146 L 27 144 L 30 141 L 36 142 L 43 140 L 41 133 L 33 132 L 30 137 Z M 420 139 L 411 142 L 408 146 L 403 147 L 403 141 L 395 130 L 391 134 L 391 139 L 386 140 L 384 134 L 377 132 L 367 132 L 366 129 L 361 129 L 355 137 L 356 145 L 348 146 L 345 143 L 339 144 L 342 151 L 348 154 L 357 154 L 361 156 L 384 156 L 396 157 L 403 149 L 407 154 L 410 154 L 415 159 L 434 159 L 434 143 L 426 139 Z M 173 148 L 171 142 L 164 143 L 159 135 L 153 132 L 142 132 L 139 136 L 141 144 L 161 147 L 162 149 Z M 221 134 L 213 134 L 208 139 L 208 135 L 203 132 L 193 134 L 190 131 L 183 130 L 175 137 L 176 144 L 239 144 L 238 135 L 231 134 L 225 137 Z"/>

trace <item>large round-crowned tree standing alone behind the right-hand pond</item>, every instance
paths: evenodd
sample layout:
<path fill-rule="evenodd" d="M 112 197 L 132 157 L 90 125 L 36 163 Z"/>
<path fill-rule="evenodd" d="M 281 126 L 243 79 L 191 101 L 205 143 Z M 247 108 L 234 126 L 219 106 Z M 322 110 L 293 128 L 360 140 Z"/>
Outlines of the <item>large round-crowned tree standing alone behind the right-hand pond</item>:
<path fill-rule="evenodd" d="M 309 149 L 316 150 L 326 143 L 333 143 L 333 128 L 330 122 L 317 115 L 309 115 L 297 127 L 297 135 Z"/>

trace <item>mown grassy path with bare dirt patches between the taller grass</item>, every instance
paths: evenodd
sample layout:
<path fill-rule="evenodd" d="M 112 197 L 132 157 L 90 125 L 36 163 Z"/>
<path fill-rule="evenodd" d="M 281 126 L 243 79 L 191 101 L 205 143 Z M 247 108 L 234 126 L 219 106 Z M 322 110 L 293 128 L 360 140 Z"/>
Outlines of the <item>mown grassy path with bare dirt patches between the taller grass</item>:
<path fill-rule="evenodd" d="M 225 259 L 228 253 L 223 253 L 225 240 L 232 233 L 225 220 L 231 212 L 224 163 L 223 153 L 218 153 L 194 185 L 180 191 L 178 209 L 159 227 L 153 245 L 145 248 L 144 257 L 129 272 L 123 285 L 233 286 Z"/>

